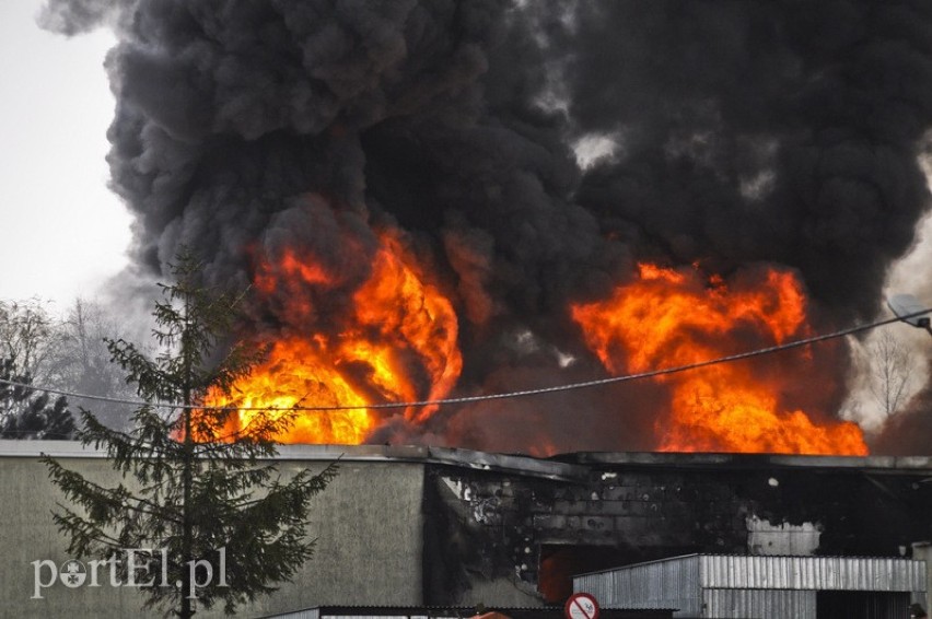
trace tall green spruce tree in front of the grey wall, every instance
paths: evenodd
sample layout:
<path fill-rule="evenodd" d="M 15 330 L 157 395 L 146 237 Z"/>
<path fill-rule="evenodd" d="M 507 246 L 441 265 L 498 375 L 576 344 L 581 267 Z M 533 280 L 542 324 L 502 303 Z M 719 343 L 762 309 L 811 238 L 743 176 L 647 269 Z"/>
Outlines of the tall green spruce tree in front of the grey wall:
<path fill-rule="evenodd" d="M 210 401 L 223 401 L 257 354 L 245 343 L 218 354 L 237 300 L 200 287 L 188 255 L 173 272 L 175 283 L 160 284 L 163 297 L 153 312 L 161 353 L 150 359 L 127 341 L 107 342 L 145 402 L 133 413 L 135 430 L 110 430 L 81 412 L 81 441 L 105 447 L 121 481 L 103 486 L 54 458 L 44 462 L 73 504 L 59 504 L 54 514 L 70 553 L 107 561 L 124 582 L 154 581 L 139 589 L 147 608 L 188 618 L 199 606 L 222 603 L 232 615 L 291 580 L 311 558 L 310 501 L 336 466 L 290 479 L 279 475 L 272 436 L 290 424 L 293 411 L 268 411 L 238 431 L 226 430 L 235 411 L 211 408 Z M 153 552 L 135 554 L 132 565 L 126 549 L 135 548 Z M 137 568 L 143 562 L 145 569 Z M 214 573 L 203 584 L 208 564 Z"/>

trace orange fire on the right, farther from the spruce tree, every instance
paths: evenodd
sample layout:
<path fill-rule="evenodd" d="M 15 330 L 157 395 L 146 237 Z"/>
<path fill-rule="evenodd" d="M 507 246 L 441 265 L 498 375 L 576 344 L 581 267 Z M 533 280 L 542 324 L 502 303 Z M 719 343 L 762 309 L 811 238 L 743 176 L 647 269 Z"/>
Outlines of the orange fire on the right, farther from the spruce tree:
<path fill-rule="evenodd" d="M 688 365 L 746 350 L 743 341 L 772 346 L 807 331 L 805 294 L 793 273 L 777 269 L 732 290 L 696 267 L 640 265 L 637 281 L 571 315 L 614 374 Z M 867 453 L 858 425 L 783 408 L 776 394 L 793 376 L 755 375 L 738 362 L 657 379 L 671 388 L 671 413 L 654 427 L 660 451 Z"/>

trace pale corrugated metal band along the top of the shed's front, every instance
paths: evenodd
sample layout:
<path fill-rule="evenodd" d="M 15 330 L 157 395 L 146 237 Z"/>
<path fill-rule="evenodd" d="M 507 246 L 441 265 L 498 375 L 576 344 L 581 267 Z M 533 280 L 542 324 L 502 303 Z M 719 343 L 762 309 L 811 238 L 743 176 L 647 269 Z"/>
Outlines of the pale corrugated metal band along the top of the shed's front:
<path fill-rule="evenodd" d="M 870 557 L 700 554 L 700 586 L 825 591 L 925 591 L 925 562 Z"/>

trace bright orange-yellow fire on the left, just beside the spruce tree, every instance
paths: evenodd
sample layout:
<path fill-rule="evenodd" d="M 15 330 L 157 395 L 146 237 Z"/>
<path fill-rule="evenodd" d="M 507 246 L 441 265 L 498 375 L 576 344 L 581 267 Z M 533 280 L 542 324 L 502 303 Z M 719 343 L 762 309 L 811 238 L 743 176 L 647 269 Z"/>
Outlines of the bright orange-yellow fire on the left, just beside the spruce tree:
<path fill-rule="evenodd" d="M 366 407 L 444 397 L 463 365 L 457 347 L 456 314 L 450 301 L 421 271 L 398 236 L 381 235 L 371 275 L 352 293 L 337 329 L 293 332 L 277 339 L 267 359 L 237 381 L 232 398 L 210 394 L 214 407 L 236 407 L 228 431 L 245 428 L 256 414 L 245 410 L 300 407 L 352 407 L 301 411 L 283 443 L 359 444 L 378 425 Z M 314 325 L 314 295 L 342 284 L 339 277 L 308 257 L 289 249 L 256 269 L 260 294 L 293 291 L 286 308 L 291 325 Z M 281 295 L 279 295 L 281 296 Z M 408 407 L 408 420 L 423 422 L 435 407 Z"/>

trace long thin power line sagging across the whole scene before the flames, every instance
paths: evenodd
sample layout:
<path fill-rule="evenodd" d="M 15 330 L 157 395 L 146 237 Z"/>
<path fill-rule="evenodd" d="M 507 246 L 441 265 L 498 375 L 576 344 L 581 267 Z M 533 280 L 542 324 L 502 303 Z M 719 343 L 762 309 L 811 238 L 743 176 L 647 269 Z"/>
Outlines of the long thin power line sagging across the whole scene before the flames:
<path fill-rule="evenodd" d="M 626 374 L 624 376 L 610 376 L 608 378 L 597 378 L 593 381 L 583 381 L 581 383 L 569 383 L 564 385 L 555 385 L 552 387 L 539 387 L 536 389 L 524 389 L 517 392 L 504 392 L 501 394 L 486 394 L 481 396 L 463 396 L 456 398 L 441 398 L 434 400 L 417 400 L 417 401 L 407 401 L 407 402 L 382 402 L 382 404 L 373 404 L 366 406 L 293 406 L 288 408 L 277 408 L 277 407 L 220 407 L 215 408 L 215 410 L 265 410 L 265 411 L 337 411 L 337 410 L 362 410 L 362 409 L 394 409 L 394 408 L 408 408 L 408 407 L 426 407 L 426 406 L 444 406 L 444 405 L 458 405 L 458 404 L 473 404 L 479 401 L 488 401 L 488 400 L 502 400 L 502 399 L 511 399 L 511 398 L 523 398 L 529 396 L 539 396 L 545 394 L 554 394 L 558 392 L 570 392 L 573 389 L 587 389 L 592 387 L 599 387 L 603 385 L 610 385 L 614 383 L 627 383 L 629 381 L 641 381 L 644 378 L 653 378 L 656 376 L 664 376 L 667 374 L 677 374 L 680 372 L 687 372 L 690 370 L 698 370 L 701 367 L 708 367 L 710 365 L 718 365 L 721 363 L 732 363 L 735 361 L 742 361 L 745 359 L 752 359 L 754 357 L 761 357 L 764 354 L 771 354 L 774 352 L 780 352 L 783 350 L 790 350 L 794 348 L 801 348 L 804 346 L 809 346 L 813 343 L 818 343 L 823 341 L 827 341 L 830 339 L 837 339 L 863 331 L 867 331 L 871 329 L 875 329 L 877 327 L 883 327 L 885 325 L 890 325 L 893 323 L 898 323 L 901 320 L 907 320 L 908 318 L 916 318 L 918 316 L 923 316 L 925 314 L 932 313 L 932 308 L 927 308 L 921 312 L 914 312 L 912 314 L 907 314 L 904 316 L 896 316 L 893 318 L 887 318 L 884 320 L 877 320 L 875 323 L 869 323 L 864 325 L 858 325 L 854 327 L 849 327 L 847 329 L 841 329 L 839 331 L 834 331 L 830 334 L 824 334 L 820 336 L 812 336 L 808 338 L 803 338 L 799 340 L 793 340 L 790 342 L 780 343 L 777 346 L 771 346 L 767 348 L 759 348 L 755 350 L 750 350 L 747 352 L 739 352 L 736 354 L 730 354 L 726 357 L 719 357 L 715 359 L 710 359 L 707 361 L 699 361 L 696 363 L 688 363 L 686 365 L 676 365 L 674 367 L 666 367 L 663 370 L 650 370 L 648 372 L 639 372 L 636 374 Z M 42 386 L 30 385 L 26 383 L 18 383 L 15 381 L 7 381 L 0 378 L 0 384 L 9 385 L 12 387 L 25 387 L 28 389 L 33 389 L 36 392 L 45 392 L 48 394 L 54 394 L 57 396 L 65 396 L 69 398 L 82 398 L 94 401 L 104 401 L 112 404 L 124 404 L 130 406 L 150 406 L 153 408 L 178 408 L 178 409 L 201 409 L 201 408 L 213 408 L 213 407 L 205 407 L 203 405 L 183 405 L 183 404 L 171 404 L 171 402 L 145 402 L 142 400 L 131 400 L 131 399 L 123 399 L 123 398 L 114 398 L 107 396 L 93 396 L 90 394 L 79 394 L 74 392 L 67 392 L 62 389 L 51 389 L 45 388 Z"/>

